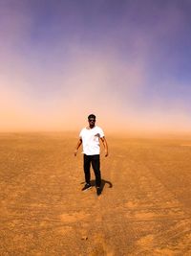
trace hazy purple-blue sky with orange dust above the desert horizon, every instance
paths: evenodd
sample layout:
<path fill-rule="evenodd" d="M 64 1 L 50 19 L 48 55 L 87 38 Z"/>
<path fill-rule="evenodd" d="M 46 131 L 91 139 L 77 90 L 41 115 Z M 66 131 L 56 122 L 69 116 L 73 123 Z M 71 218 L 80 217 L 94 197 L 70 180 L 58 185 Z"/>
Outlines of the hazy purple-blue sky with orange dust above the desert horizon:
<path fill-rule="evenodd" d="M 0 0 L 0 131 L 190 132 L 191 0 Z"/>

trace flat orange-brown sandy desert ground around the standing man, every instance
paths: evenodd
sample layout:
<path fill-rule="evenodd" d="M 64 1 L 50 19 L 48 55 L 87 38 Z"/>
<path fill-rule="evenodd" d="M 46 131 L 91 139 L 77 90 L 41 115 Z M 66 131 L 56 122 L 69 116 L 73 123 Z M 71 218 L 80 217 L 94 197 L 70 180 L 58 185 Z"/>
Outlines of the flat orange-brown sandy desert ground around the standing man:
<path fill-rule="evenodd" d="M 76 139 L 0 134 L 0 255 L 191 255 L 191 140 L 109 136 L 97 197 Z"/>

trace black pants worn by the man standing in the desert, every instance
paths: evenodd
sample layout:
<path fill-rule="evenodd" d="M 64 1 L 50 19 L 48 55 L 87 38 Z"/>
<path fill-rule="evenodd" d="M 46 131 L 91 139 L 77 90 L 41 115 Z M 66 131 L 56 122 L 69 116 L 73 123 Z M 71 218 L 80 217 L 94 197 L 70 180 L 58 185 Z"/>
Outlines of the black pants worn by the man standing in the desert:
<path fill-rule="evenodd" d="M 90 183 L 90 167 L 93 167 L 96 176 L 96 187 L 101 185 L 101 174 L 100 174 L 100 160 L 99 154 L 87 155 L 84 154 L 84 174 L 86 183 Z"/>

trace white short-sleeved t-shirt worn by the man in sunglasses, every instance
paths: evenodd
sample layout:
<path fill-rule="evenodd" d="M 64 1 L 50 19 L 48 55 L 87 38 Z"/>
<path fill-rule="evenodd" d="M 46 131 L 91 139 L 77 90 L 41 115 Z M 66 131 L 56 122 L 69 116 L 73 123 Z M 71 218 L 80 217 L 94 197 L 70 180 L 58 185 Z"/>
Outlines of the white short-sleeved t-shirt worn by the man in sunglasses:
<path fill-rule="evenodd" d="M 99 138 L 104 136 L 102 128 L 82 128 L 79 137 L 83 143 L 83 153 L 94 155 L 100 153 Z"/>

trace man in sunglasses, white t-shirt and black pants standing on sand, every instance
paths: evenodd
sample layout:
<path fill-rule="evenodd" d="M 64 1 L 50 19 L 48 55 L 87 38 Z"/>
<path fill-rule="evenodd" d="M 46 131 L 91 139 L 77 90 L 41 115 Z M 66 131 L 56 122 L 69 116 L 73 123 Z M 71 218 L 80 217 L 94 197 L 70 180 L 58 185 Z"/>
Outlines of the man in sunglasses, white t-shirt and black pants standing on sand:
<path fill-rule="evenodd" d="M 105 156 L 108 156 L 108 145 L 105 139 L 102 128 L 96 126 L 96 116 L 91 114 L 88 116 L 89 126 L 87 128 L 82 128 L 79 134 L 79 140 L 77 142 L 76 148 L 74 150 L 74 156 L 76 156 L 77 151 L 81 144 L 83 145 L 83 154 L 84 154 L 84 174 L 86 184 L 83 187 L 82 191 L 88 190 L 92 188 L 90 182 L 90 167 L 92 164 L 93 170 L 96 176 L 96 194 L 99 196 L 101 194 L 101 174 L 100 174 L 100 147 L 99 147 L 99 139 L 102 141 Z"/>

